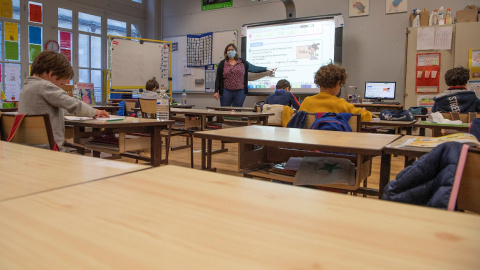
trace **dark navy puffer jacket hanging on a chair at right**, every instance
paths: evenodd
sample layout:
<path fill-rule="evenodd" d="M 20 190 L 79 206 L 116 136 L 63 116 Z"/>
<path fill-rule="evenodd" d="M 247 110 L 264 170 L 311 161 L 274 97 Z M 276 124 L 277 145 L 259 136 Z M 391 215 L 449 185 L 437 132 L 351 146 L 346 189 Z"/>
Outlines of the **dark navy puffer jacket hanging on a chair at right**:
<path fill-rule="evenodd" d="M 388 183 L 382 199 L 447 209 L 461 150 L 457 142 L 435 147 Z"/>

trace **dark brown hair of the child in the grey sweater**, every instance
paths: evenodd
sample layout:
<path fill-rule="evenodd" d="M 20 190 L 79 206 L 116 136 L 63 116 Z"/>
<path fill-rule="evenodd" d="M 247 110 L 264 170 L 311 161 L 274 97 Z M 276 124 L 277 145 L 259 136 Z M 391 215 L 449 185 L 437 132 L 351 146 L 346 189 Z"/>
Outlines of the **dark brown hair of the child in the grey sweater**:
<path fill-rule="evenodd" d="M 59 79 L 71 79 L 75 74 L 65 55 L 52 51 L 41 52 L 33 60 L 30 75 L 49 74 L 50 72 L 53 72 L 52 75 Z"/>

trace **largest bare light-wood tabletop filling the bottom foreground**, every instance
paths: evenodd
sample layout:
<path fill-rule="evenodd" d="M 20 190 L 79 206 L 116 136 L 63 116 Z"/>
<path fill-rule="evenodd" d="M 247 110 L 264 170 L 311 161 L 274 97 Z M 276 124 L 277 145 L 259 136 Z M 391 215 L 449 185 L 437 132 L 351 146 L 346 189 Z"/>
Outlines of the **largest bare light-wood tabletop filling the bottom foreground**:
<path fill-rule="evenodd" d="M 0 203 L 3 269 L 478 269 L 480 217 L 175 166 Z"/>

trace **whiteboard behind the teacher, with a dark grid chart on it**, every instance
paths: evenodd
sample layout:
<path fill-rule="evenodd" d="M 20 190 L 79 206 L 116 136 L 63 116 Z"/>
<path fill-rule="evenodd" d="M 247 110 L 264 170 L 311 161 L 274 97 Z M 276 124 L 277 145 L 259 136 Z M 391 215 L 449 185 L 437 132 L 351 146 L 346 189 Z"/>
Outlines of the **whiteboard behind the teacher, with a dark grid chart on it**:
<path fill-rule="evenodd" d="M 183 89 L 187 92 L 205 92 L 205 82 L 195 84 L 195 79 L 205 80 L 205 67 L 186 68 L 187 65 L 187 36 L 167 37 L 171 41 L 172 51 L 172 92 L 179 93 Z M 212 62 L 218 64 L 224 59 L 223 51 L 229 43 L 238 44 L 237 30 L 228 30 L 213 33 Z"/>

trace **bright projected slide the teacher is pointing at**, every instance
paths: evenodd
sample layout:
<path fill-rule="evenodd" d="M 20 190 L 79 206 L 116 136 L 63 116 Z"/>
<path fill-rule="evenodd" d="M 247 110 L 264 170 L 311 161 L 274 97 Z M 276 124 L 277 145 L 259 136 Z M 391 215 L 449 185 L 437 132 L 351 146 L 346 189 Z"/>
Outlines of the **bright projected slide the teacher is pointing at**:
<path fill-rule="evenodd" d="M 275 88 L 287 79 L 292 88 L 317 88 L 314 74 L 333 62 L 333 18 L 247 27 L 246 58 L 257 66 L 277 68 L 275 77 L 249 82 L 249 88 Z"/>

